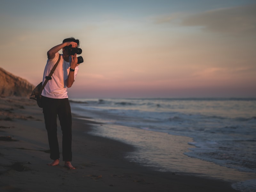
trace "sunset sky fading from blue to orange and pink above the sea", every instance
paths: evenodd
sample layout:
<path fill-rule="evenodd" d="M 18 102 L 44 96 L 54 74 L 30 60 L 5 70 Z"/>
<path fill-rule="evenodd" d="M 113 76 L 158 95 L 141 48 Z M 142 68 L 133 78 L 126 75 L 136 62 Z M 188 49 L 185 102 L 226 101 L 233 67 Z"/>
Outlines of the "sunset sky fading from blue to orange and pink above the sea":
<path fill-rule="evenodd" d="M 256 97 L 255 0 L 1 0 L 0 26 L 0 67 L 34 85 L 80 40 L 70 98 Z"/>

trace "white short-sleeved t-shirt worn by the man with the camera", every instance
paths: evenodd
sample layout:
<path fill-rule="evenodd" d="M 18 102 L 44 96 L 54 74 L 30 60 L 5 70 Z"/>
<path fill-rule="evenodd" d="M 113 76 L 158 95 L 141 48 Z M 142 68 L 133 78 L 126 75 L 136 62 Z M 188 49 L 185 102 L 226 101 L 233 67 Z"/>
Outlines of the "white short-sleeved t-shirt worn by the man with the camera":
<path fill-rule="evenodd" d="M 45 76 L 49 76 L 51 69 L 53 68 L 54 64 L 59 59 L 59 53 L 55 53 L 55 57 L 53 59 L 48 59 L 46 66 L 44 68 L 44 76 L 43 76 L 43 84 L 45 81 Z M 64 99 L 68 98 L 68 91 L 67 91 L 67 79 L 68 79 L 68 73 L 69 73 L 70 64 L 69 62 L 65 61 L 62 57 L 62 54 L 60 56 L 60 62 L 55 69 L 54 73 L 52 74 L 52 79 L 47 82 L 45 85 L 42 95 L 44 97 L 49 97 L 53 99 Z M 76 79 L 77 72 L 79 70 L 79 67 L 77 66 L 75 68 L 75 74 L 74 77 Z"/>

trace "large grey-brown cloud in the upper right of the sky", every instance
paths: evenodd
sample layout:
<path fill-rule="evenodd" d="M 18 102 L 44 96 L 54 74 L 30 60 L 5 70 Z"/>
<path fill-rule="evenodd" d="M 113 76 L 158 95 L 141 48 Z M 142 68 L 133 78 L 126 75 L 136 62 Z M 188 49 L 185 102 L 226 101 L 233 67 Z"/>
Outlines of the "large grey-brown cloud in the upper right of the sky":
<path fill-rule="evenodd" d="M 181 24 L 183 26 L 201 26 L 207 31 L 229 35 L 255 35 L 256 4 L 190 15 Z"/>

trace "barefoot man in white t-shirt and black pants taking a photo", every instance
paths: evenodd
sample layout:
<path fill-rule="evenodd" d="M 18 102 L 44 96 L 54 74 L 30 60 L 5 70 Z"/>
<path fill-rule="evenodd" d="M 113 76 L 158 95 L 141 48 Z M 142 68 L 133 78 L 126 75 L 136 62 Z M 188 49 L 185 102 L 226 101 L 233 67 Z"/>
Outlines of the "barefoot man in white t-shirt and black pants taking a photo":
<path fill-rule="evenodd" d="M 47 52 L 47 63 L 44 68 L 44 77 L 48 76 L 52 67 L 59 59 L 59 51 L 62 49 L 63 54 L 60 56 L 60 61 L 55 69 L 52 79 L 48 81 L 42 92 L 43 113 L 45 128 L 48 134 L 50 146 L 50 158 L 53 162 L 50 166 L 59 165 L 60 152 L 57 139 L 57 115 L 60 120 L 62 130 L 62 157 L 65 161 L 64 166 L 68 169 L 75 169 L 72 166 L 72 118 L 71 109 L 68 101 L 67 87 L 71 87 L 75 81 L 79 64 L 77 64 L 76 54 L 70 55 L 70 47 L 76 48 L 79 46 L 79 40 L 74 37 L 63 40 L 62 44 L 52 47 Z"/>

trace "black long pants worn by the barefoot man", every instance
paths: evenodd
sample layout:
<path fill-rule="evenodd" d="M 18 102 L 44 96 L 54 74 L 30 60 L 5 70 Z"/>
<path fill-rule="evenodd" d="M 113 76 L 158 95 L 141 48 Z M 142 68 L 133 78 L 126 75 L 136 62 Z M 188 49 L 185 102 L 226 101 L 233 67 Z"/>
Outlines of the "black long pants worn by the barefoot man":
<path fill-rule="evenodd" d="M 48 134 L 48 141 L 51 150 L 50 158 L 60 158 L 59 143 L 57 138 L 57 115 L 62 130 L 62 157 L 63 161 L 72 161 L 72 117 L 68 98 L 52 99 L 42 97 L 44 123 Z"/>

